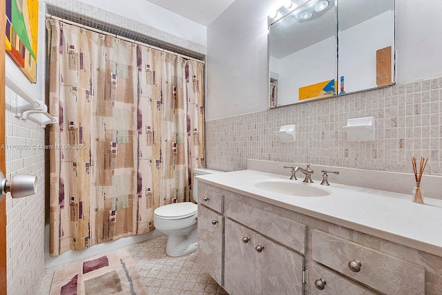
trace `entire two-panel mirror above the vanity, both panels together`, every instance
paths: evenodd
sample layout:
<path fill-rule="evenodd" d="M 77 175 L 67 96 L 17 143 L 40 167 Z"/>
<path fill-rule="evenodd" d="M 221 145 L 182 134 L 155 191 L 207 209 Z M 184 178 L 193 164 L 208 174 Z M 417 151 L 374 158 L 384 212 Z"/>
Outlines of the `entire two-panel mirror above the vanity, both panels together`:
<path fill-rule="evenodd" d="M 394 83 L 394 0 L 310 0 L 278 12 L 270 108 Z"/>

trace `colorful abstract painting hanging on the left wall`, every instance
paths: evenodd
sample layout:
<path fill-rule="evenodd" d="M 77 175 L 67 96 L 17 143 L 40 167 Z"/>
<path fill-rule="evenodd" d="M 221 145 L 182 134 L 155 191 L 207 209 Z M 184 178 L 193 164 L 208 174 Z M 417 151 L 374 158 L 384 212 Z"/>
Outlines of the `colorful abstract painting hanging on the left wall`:
<path fill-rule="evenodd" d="M 6 52 L 32 82 L 37 81 L 38 0 L 6 0 Z"/>

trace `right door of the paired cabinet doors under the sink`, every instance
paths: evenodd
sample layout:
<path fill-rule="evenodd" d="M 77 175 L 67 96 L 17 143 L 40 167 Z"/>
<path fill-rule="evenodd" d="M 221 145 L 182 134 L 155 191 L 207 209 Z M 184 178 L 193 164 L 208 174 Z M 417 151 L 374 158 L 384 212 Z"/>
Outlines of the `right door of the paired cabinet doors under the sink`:
<path fill-rule="evenodd" d="M 262 246 L 261 252 L 258 252 Z M 256 234 L 256 294 L 302 294 L 304 257 Z"/>

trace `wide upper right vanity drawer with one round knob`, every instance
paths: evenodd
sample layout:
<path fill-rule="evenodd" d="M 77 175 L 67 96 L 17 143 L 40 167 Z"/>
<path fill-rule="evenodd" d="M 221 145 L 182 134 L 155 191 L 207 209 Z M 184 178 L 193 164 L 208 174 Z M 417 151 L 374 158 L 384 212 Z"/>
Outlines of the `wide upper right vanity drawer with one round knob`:
<path fill-rule="evenodd" d="M 352 241 L 319 230 L 312 231 L 312 257 L 385 294 L 425 294 L 425 269 Z M 360 270 L 349 268 L 359 261 Z M 356 267 L 357 268 L 357 267 Z"/>

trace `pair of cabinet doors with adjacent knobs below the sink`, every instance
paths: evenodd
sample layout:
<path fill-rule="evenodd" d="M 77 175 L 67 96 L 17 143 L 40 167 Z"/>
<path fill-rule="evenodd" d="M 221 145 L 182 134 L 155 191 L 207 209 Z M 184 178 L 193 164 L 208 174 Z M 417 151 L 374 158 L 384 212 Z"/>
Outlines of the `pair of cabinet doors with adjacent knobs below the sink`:
<path fill-rule="evenodd" d="M 302 294 L 302 255 L 228 218 L 224 229 L 229 294 Z"/>

